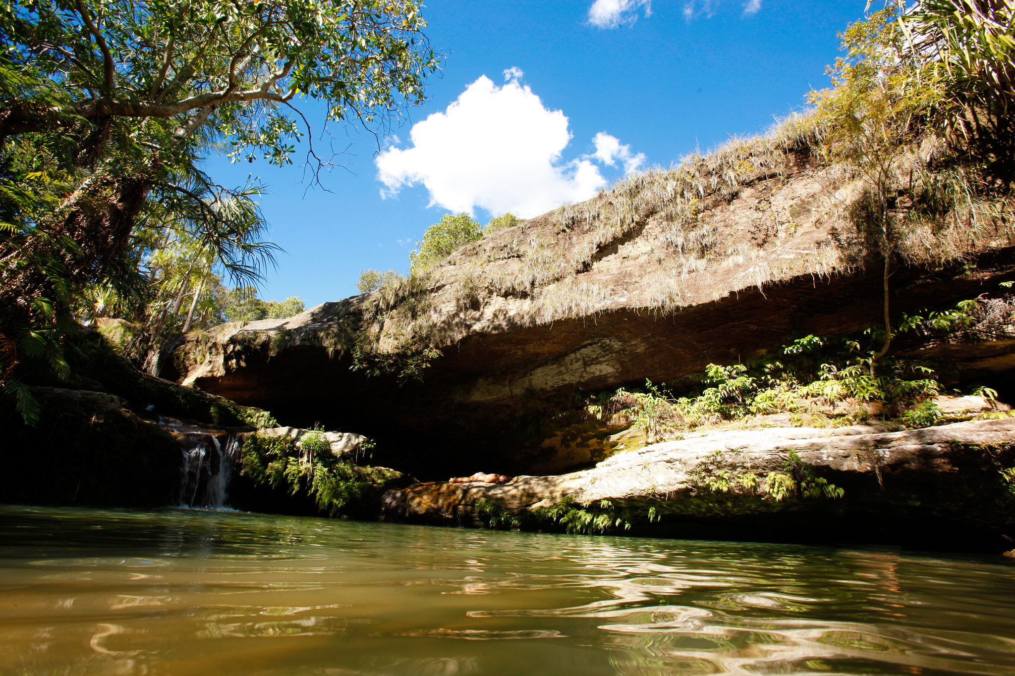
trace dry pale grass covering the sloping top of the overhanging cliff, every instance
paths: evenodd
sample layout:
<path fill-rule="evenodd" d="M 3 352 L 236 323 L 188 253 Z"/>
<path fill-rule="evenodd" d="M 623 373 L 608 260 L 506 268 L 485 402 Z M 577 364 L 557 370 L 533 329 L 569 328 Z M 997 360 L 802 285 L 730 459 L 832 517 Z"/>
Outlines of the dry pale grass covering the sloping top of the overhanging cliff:
<path fill-rule="evenodd" d="M 595 316 L 613 294 L 583 280 L 582 273 L 606 247 L 638 234 L 650 222 L 659 225 L 654 243 L 659 266 L 641 280 L 628 304 L 657 313 L 700 302 L 688 295 L 688 278 L 708 271 L 740 271 L 729 279 L 719 276 L 723 281 L 709 289 L 715 300 L 795 276 L 827 277 L 863 268 L 881 247 L 871 225 L 879 207 L 856 170 L 821 159 L 822 135 L 813 118 L 791 118 L 769 136 L 735 139 L 675 168 L 630 176 L 589 202 L 469 244 L 424 275 L 393 280 L 365 308 L 373 349 L 450 345 L 465 334 L 470 311 L 495 296 L 527 301 L 512 319 L 522 325 Z M 801 168 L 808 162 L 813 168 Z M 827 184 L 819 220 L 837 219 L 841 226 L 827 243 L 808 255 L 770 258 L 767 250 L 797 231 L 792 218 L 771 217 L 775 233 L 767 244 L 752 241 L 746 230 L 716 224 L 713 210 L 744 185 L 771 181 L 777 187 L 793 171 L 823 171 Z M 894 161 L 892 180 L 900 195 L 892 208 L 893 255 L 900 261 L 940 267 L 990 242 L 1012 241 L 1015 220 L 1009 218 L 1007 198 L 983 195 L 977 176 L 956 162 L 942 138 L 929 134 L 915 140 Z M 450 289 L 439 289 L 438 280 L 442 286 L 450 280 Z"/>

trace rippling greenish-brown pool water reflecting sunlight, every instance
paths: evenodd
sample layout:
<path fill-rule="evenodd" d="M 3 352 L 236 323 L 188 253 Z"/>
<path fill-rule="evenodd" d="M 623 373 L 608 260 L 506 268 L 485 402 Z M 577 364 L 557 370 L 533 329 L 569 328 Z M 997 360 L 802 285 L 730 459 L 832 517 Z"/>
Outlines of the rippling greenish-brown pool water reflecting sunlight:
<path fill-rule="evenodd" d="M 0 508 L 0 674 L 1015 674 L 1015 566 Z"/>

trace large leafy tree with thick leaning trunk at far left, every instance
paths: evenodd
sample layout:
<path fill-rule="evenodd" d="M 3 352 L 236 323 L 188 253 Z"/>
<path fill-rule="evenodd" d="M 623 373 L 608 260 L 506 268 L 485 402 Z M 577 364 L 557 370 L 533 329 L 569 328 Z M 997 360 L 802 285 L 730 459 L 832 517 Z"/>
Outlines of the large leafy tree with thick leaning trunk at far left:
<path fill-rule="evenodd" d="M 138 223 L 158 205 L 198 223 L 229 272 L 256 276 L 266 249 L 244 235 L 256 191 L 216 185 L 196 162 L 214 147 L 291 162 L 301 130 L 310 139 L 302 96 L 327 101 L 325 124 L 385 131 L 437 67 L 424 26 L 415 0 L 0 6 L 4 391 L 25 400 L 12 375 L 24 359 L 68 375 L 72 309 L 137 271 Z M 308 144 L 315 177 L 331 163 Z"/>

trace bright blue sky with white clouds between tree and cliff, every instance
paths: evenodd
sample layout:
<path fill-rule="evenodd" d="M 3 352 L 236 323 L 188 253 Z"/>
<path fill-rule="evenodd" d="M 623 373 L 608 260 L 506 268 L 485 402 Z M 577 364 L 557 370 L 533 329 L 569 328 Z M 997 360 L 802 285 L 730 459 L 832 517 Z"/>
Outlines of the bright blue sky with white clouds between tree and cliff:
<path fill-rule="evenodd" d="M 865 5 L 431 0 L 426 32 L 445 68 L 385 152 L 334 130 L 335 148 L 351 146 L 347 168 L 324 178 L 330 193 L 300 183 L 301 152 L 285 168 L 218 157 L 206 168 L 224 184 L 253 172 L 270 185 L 261 205 L 286 253 L 261 295 L 311 307 L 357 293 L 366 268 L 406 272 L 413 242 L 449 211 L 533 216 L 627 169 L 764 132 L 826 86 L 836 32 Z M 300 107 L 319 127 L 320 106 Z"/>

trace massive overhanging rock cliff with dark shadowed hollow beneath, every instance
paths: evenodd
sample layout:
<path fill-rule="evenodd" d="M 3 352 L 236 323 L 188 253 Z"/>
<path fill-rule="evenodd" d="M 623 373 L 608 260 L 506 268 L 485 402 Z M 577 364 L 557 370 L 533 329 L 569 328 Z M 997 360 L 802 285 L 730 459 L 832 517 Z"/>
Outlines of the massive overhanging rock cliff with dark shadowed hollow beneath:
<path fill-rule="evenodd" d="M 744 362 L 792 335 L 880 321 L 881 261 L 841 208 L 861 189 L 805 150 L 758 153 L 730 165 L 727 183 L 713 180 L 722 167 L 703 165 L 632 179 L 469 244 L 398 289 L 192 334 L 174 375 L 290 425 L 355 430 L 416 475 L 460 474 L 465 458 L 510 474 L 595 462 L 588 445 L 565 457 L 564 440 L 559 459 L 542 457 L 556 433 L 535 419 L 600 390 Z M 896 265 L 893 311 L 944 307 L 1015 278 L 1006 228 L 959 243 L 924 233 L 950 248 Z M 421 384 L 368 378 L 350 369 L 357 341 L 382 353 L 431 345 L 442 356 Z M 899 340 L 893 351 L 947 360 L 948 387 L 1015 395 L 1010 335 Z"/>

